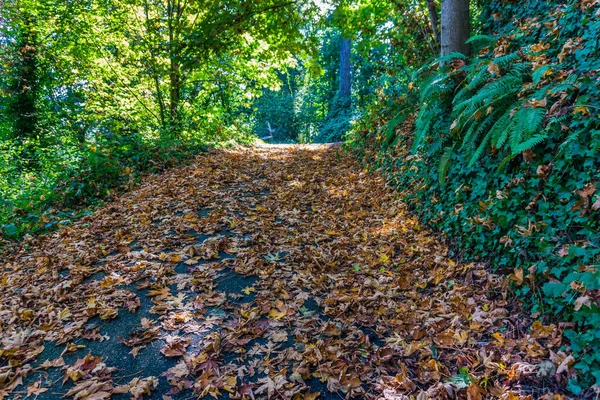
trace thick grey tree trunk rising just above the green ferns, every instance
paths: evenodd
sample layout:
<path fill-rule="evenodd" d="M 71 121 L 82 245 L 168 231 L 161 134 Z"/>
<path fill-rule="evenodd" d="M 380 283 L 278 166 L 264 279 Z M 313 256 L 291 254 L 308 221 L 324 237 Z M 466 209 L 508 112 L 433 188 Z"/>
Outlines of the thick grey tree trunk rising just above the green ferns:
<path fill-rule="evenodd" d="M 471 54 L 469 0 L 442 0 L 442 56 L 459 52 Z"/>

